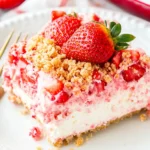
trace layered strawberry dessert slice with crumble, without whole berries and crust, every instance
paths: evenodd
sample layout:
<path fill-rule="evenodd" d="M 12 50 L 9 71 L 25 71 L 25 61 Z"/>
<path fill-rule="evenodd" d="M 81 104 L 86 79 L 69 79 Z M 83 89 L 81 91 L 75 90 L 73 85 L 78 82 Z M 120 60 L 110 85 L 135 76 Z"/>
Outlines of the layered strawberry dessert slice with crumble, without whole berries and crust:
<path fill-rule="evenodd" d="M 4 88 L 22 99 L 52 143 L 149 105 L 150 59 L 144 52 L 118 52 L 98 65 L 67 59 L 59 50 L 41 36 L 18 43 L 3 72 Z"/>

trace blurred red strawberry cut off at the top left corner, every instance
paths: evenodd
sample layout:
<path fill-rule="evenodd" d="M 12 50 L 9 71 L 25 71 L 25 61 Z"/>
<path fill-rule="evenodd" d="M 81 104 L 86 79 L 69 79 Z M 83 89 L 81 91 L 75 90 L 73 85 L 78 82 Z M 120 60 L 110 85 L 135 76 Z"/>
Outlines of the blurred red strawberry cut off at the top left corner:
<path fill-rule="evenodd" d="M 24 1 L 25 0 L 0 0 L 0 9 L 12 9 Z"/>

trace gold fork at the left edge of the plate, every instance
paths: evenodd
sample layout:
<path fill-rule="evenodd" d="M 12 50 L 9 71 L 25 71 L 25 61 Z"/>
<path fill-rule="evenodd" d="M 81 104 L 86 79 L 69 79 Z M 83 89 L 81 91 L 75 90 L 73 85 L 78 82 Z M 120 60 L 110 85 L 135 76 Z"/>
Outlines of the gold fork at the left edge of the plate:
<path fill-rule="evenodd" d="M 8 44 L 10 43 L 13 34 L 14 34 L 14 30 L 9 33 L 9 35 L 8 35 L 8 37 L 7 37 L 7 39 L 6 39 L 6 41 L 4 42 L 2 48 L 0 49 L 0 59 L 2 58 L 2 56 L 3 56 L 4 52 L 5 52 L 5 50 L 7 49 L 7 46 L 8 46 Z M 22 33 L 20 32 L 19 35 L 16 37 L 14 43 L 17 43 L 17 42 L 21 39 L 21 34 L 22 34 Z M 27 38 L 28 38 L 28 34 L 26 34 L 26 35 L 24 36 L 24 39 L 23 39 L 23 40 L 27 40 Z M 1 77 L 2 72 L 3 72 L 3 66 L 4 66 L 4 65 L 0 66 L 0 77 Z M 0 83 L 0 99 L 2 98 L 3 95 L 4 95 L 4 89 L 2 88 L 1 83 Z"/>

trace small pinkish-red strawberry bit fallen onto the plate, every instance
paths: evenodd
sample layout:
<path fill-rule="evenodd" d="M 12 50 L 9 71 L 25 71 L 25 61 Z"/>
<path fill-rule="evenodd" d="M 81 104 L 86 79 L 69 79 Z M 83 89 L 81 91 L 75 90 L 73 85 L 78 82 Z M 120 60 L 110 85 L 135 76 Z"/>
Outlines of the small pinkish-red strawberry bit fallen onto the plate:
<path fill-rule="evenodd" d="M 41 130 L 38 127 L 33 127 L 29 133 L 29 136 L 32 136 L 34 140 L 38 141 L 42 138 Z"/>

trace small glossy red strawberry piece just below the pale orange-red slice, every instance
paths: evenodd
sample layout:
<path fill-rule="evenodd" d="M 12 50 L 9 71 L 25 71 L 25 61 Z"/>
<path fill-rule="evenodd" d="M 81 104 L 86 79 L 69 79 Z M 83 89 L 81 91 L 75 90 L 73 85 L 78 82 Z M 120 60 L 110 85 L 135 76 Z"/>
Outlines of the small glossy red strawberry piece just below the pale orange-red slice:
<path fill-rule="evenodd" d="M 63 104 L 65 102 L 67 102 L 69 99 L 69 95 L 64 92 L 64 91 L 61 91 L 59 94 L 58 94 L 58 97 L 57 97 L 57 100 L 56 100 L 56 103 L 57 104 Z"/>

